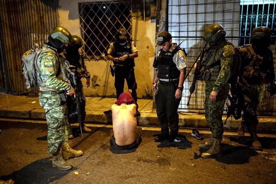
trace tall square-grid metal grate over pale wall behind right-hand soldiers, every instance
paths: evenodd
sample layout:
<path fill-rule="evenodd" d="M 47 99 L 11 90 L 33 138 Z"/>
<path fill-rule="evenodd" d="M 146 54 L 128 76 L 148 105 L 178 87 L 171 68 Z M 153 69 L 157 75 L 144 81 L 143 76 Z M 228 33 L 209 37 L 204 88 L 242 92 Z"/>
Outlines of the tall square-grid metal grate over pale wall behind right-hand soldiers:
<path fill-rule="evenodd" d="M 257 0 L 254 0 L 256 2 Z M 196 57 L 204 47 L 202 39 L 205 28 L 210 24 L 221 24 L 226 30 L 226 39 L 239 45 L 241 37 L 241 2 L 239 0 L 171 0 L 168 3 L 168 31 L 173 36 L 173 42 L 180 43 L 185 38 L 180 47 L 187 51 L 187 71 L 195 61 Z M 252 0 L 253 2 L 253 0 Z M 265 1 L 261 0 L 264 4 Z M 242 2 L 244 3 L 244 2 Z M 248 2 L 249 3 L 249 2 Z M 275 3 L 274 3 L 275 4 Z M 270 5 L 271 7 L 274 7 Z M 247 6 L 244 5 L 244 6 Z M 259 5 L 259 10 L 260 5 Z M 262 10 L 261 10 L 262 11 Z M 250 12 L 251 13 L 251 12 Z M 260 14 L 260 13 L 258 13 Z M 276 13 L 273 13 L 275 22 Z M 250 24 L 249 22 L 246 23 Z M 263 25 L 263 24 L 262 24 Z M 269 25 L 269 24 L 268 24 Z M 256 27 L 256 26 L 255 26 Z M 254 28 L 255 28 L 254 27 Z M 271 26 L 272 28 L 272 26 Z M 273 25 L 273 29 L 276 25 Z M 248 30 L 246 37 L 250 37 Z M 274 35 L 276 36 L 276 35 Z M 271 45 L 271 50 L 276 53 L 276 45 Z M 186 106 L 189 97 L 189 87 L 193 80 L 193 71 L 184 82 L 182 99 L 179 105 L 180 111 L 204 112 L 205 83 L 197 82 L 196 90 L 191 96 L 189 107 Z M 197 91 L 197 92 L 196 92 Z M 267 90 L 264 93 L 259 115 L 276 115 L 276 98 L 270 96 Z"/>

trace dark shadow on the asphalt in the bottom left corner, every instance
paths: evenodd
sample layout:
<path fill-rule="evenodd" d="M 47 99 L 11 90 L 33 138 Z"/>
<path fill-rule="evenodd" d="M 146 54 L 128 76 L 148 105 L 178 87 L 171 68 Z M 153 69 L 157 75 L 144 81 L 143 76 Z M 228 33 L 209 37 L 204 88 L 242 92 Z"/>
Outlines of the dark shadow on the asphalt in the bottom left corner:
<path fill-rule="evenodd" d="M 72 170 L 59 170 L 52 167 L 51 157 L 34 161 L 10 175 L 1 176 L 1 180 L 13 179 L 16 184 L 20 183 L 50 183 L 64 177 Z"/>

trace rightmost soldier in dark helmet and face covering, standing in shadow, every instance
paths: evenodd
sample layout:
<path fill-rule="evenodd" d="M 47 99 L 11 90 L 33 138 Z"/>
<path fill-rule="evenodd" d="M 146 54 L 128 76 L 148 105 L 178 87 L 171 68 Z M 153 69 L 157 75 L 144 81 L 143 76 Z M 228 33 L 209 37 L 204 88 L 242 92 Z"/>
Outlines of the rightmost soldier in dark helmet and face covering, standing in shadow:
<path fill-rule="evenodd" d="M 240 50 L 241 76 L 239 85 L 242 87 L 244 106 L 241 127 L 238 136 L 244 136 L 244 126 L 252 138 L 252 147 L 261 150 L 256 128 L 258 124 L 258 108 L 262 102 L 265 84 L 275 83 L 273 54 L 269 45 L 271 30 L 268 27 L 257 27 L 251 33 L 251 44 L 244 45 Z"/>

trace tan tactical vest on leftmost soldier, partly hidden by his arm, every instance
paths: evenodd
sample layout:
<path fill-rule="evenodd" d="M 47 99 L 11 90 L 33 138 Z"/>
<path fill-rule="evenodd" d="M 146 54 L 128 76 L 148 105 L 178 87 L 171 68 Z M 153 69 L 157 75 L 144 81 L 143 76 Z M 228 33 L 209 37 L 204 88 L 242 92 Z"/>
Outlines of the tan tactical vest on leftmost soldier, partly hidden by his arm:
<path fill-rule="evenodd" d="M 50 47 L 50 46 L 47 46 L 47 47 Z M 54 50 L 49 49 L 47 47 L 43 49 L 47 49 L 49 52 L 52 52 L 57 59 L 57 63 L 55 64 L 55 70 L 57 71 L 57 74 L 56 74 L 57 79 L 65 81 L 70 84 L 70 80 L 66 76 L 66 74 L 70 72 L 69 63 L 63 57 L 61 57 L 61 55 L 58 55 Z M 39 60 L 37 62 L 39 64 Z M 38 66 L 40 66 L 40 64 Z M 37 71 L 37 74 L 41 76 L 41 70 Z M 44 83 L 43 85 L 39 84 L 39 81 L 37 82 L 37 84 L 39 85 L 40 91 L 56 91 L 55 89 L 45 86 Z"/>

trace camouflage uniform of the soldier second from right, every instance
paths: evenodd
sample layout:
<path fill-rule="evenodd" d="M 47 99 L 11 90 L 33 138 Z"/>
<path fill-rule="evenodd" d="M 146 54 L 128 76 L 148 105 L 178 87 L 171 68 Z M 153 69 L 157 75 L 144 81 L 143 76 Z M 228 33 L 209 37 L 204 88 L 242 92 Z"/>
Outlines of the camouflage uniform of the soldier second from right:
<path fill-rule="evenodd" d="M 229 93 L 230 86 L 228 80 L 231 76 L 231 66 L 235 50 L 233 45 L 226 40 L 218 43 L 218 46 L 211 48 L 204 54 L 202 65 L 208 66 L 220 61 L 220 64 L 210 68 L 211 77 L 206 81 L 206 76 L 200 80 L 206 82 L 205 87 L 205 118 L 210 125 L 212 136 L 215 139 L 222 139 L 223 136 L 223 107 Z M 216 101 L 211 101 L 209 96 L 212 91 L 216 91 Z"/>

